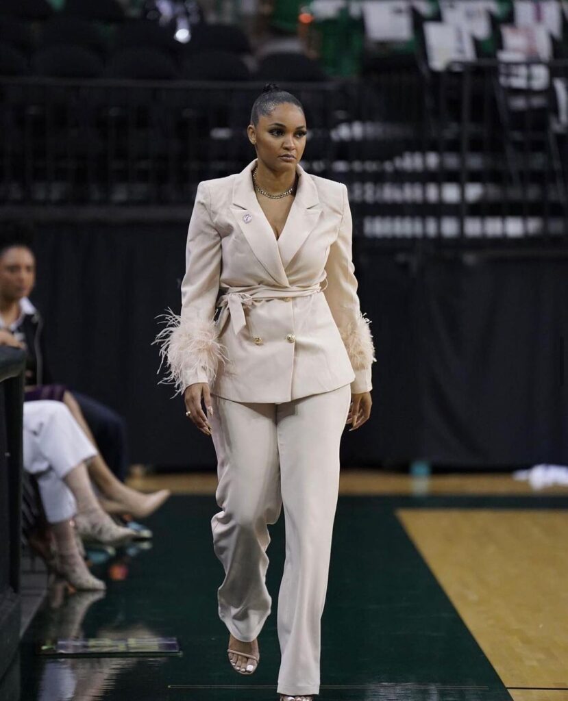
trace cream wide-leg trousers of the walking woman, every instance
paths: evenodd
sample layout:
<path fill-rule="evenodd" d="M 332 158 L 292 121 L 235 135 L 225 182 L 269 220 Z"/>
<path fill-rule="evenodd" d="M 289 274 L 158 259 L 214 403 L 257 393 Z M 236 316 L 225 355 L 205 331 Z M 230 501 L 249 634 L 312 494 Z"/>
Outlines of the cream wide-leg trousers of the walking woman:
<path fill-rule="evenodd" d="M 276 523 L 284 506 L 280 694 L 319 693 L 320 618 L 339 490 L 339 443 L 350 403 L 349 385 L 283 404 L 212 396 L 221 511 L 211 527 L 225 571 L 217 592 L 219 617 L 239 640 L 254 640 L 271 612 L 267 524 Z"/>

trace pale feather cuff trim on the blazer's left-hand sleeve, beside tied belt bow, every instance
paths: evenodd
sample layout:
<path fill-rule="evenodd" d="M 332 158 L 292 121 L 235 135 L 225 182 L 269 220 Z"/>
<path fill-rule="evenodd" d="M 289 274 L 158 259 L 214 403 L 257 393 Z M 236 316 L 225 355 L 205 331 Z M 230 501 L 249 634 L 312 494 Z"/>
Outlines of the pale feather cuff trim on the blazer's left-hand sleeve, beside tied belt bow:
<path fill-rule="evenodd" d="M 181 317 L 168 309 L 163 314 L 165 328 L 159 332 L 152 345 L 161 346 L 161 362 L 168 367 L 168 374 L 158 384 L 175 385 L 175 395 L 194 382 L 211 386 L 217 375 L 219 360 L 229 360 L 226 348 L 217 341 L 217 327 L 213 320 L 196 317 Z M 201 378 L 201 379 L 200 379 Z"/>

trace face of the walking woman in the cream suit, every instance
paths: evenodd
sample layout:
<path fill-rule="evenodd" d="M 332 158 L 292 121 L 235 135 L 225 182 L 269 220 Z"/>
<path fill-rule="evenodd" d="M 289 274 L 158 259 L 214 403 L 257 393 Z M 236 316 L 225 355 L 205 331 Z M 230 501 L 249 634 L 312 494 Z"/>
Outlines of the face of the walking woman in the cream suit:
<path fill-rule="evenodd" d="M 270 114 L 248 126 L 248 138 L 257 157 L 273 172 L 296 170 L 306 147 L 306 117 L 290 102 L 278 104 Z"/>

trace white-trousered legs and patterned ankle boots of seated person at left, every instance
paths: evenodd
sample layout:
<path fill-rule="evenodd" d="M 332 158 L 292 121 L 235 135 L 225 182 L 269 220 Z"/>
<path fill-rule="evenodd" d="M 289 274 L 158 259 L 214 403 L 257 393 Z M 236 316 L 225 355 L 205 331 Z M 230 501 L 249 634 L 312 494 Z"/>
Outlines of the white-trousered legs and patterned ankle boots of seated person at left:
<path fill-rule="evenodd" d="M 55 539 L 53 569 L 78 590 L 102 590 L 105 584 L 88 571 L 73 525 L 81 538 L 111 545 L 128 542 L 134 533 L 115 524 L 97 501 L 87 470 L 97 450 L 62 402 L 25 402 L 23 428 L 24 469 L 37 479 Z"/>

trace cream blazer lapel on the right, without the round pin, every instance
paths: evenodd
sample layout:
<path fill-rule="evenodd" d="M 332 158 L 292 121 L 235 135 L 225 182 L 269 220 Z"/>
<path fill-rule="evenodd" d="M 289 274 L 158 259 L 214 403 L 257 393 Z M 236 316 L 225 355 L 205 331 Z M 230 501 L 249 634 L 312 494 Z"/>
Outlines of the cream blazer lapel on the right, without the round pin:
<path fill-rule="evenodd" d="M 284 268 L 288 268 L 292 258 L 313 231 L 322 211 L 318 189 L 313 180 L 301 165 L 296 166 L 296 172 L 299 174 L 298 189 L 284 229 L 276 242 Z M 276 240 L 276 236 L 272 236 Z"/>

